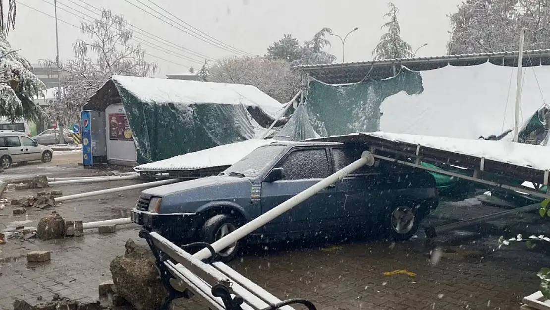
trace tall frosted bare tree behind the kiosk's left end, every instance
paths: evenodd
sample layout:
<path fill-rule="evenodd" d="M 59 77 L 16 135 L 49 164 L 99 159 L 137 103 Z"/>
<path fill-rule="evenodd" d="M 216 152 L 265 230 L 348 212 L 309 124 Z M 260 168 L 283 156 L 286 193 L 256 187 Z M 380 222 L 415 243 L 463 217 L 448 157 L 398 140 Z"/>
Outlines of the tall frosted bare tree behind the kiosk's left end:
<path fill-rule="evenodd" d="M 157 71 L 157 63 L 144 59 L 145 51 L 131 43 L 133 31 L 123 15 L 102 9 L 101 18 L 91 23 L 82 22 L 80 31 L 91 40 L 77 40 L 73 44 L 75 58 L 62 64 L 66 73 L 58 104 L 53 107 L 60 129 L 76 121 L 81 107 L 112 75 L 148 77 Z M 48 66 L 56 68 L 54 61 Z"/>

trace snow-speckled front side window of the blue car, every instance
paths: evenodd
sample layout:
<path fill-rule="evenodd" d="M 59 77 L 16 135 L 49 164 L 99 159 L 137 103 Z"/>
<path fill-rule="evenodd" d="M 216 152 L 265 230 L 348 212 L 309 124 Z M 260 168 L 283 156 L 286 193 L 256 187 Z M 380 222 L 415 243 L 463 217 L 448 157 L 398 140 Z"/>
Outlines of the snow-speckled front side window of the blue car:
<path fill-rule="evenodd" d="M 326 178 L 331 174 L 324 149 L 293 151 L 279 167 L 284 169 L 284 180 Z"/>

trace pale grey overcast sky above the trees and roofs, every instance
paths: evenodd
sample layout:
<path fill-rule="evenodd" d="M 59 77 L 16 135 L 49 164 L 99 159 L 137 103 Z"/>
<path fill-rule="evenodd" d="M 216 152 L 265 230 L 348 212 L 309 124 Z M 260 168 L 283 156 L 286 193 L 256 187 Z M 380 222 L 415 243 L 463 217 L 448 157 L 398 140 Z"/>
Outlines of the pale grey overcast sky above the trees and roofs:
<path fill-rule="evenodd" d="M 447 14 L 455 12 L 456 5 L 461 0 L 393 2 L 399 8 L 398 18 L 403 39 L 410 43 L 413 50 L 428 43 L 420 48 L 416 56 L 444 55 L 450 30 Z M 55 20 L 45 15 L 54 15 L 53 0 L 18 0 L 18 3 L 16 28 L 8 36 L 12 48 L 20 49 L 20 55 L 31 63 L 37 63 L 38 59 L 54 59 Z M 188 72 L 190 66 L 200 68 L 204 56 L 216 59 L 236 55 L 233 48 L 240 50 L 237 53 L 241 54 L 246 52 L 264 55 L 267 46 L 280 39 L 283 34 L 292 34 L 304 41 L 311 39 L 323 27 L 331 28 L 335 34 L 340 35 L 359 27 L 345 42 L 345 61 L 366 61 L 372 58 L 371 52 L 383 33 L 380 26 L 384 23 L 383 14 L 388 10 L 388 2 L 382 0 L 58 0 L 58 19 L 80 25 L 83 18 L 97 18 L 98 11 L 85 3 L 123 14 L 130 25 L 154 35 L 151 39 L 150 34 L 134 32 L 147 51 L 147 60 L 158 63 L 157 77 Z M 188 25 L 155 7 L 153 3 Z M 191 27 L 202 31 L 202 34 L 199 32 L 197 35 L 198 31 Z M 195 32 L 196 37 L 182 30 L 191 34 Z M 155 36 L 167 40 L 168 43 Z M 201 36 L 203 40 L 197 39 Z M 212 38 L 218 40 L 218 43 L 212 43 Z M 60 21 L 59 53 L 62 60 L 74 57 L 72 44 L 76 39 L 85 39 L 85 36 L 79 29 Z M 337 37 L 330 39 L 333 44 L 328 51 L 336 55 L 340 62 L 342 44 Z"/>

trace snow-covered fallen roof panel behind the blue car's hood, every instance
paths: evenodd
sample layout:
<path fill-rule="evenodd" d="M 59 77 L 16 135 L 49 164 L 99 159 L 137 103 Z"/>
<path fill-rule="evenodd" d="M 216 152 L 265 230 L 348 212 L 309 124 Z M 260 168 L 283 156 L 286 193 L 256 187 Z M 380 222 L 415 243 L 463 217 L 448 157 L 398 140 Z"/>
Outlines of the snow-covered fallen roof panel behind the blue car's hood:
<path fill-rule="evenodd" d="M 169 159 L 149 162 L 134 167 L 135 171 L 195 170 L 201 168 L 230 166 L 262 145 L 275 140 L 250 139 L 242 142 L 219 145 Z"/>

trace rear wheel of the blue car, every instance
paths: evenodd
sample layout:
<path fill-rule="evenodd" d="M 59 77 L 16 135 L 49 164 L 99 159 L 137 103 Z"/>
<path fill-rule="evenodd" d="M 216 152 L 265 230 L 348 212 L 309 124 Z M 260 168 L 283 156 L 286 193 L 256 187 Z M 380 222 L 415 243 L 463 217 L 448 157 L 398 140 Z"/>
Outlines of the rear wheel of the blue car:
<path fill-rule="evenodd" d="M 389 206 L 384 216 L 387 234 L 394 241 L 409 240 L 418 230 L 423 214 L 425 213 L 422 210 L 408 204 L 397 203 Z"/>

